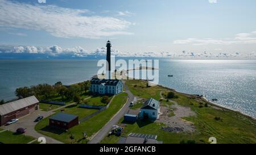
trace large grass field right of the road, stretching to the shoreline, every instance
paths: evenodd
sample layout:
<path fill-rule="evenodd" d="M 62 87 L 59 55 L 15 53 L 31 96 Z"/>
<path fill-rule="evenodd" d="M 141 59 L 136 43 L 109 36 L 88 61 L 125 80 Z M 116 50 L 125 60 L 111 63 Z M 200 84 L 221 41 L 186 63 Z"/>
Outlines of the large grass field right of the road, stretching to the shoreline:
<path fill-rule="evenodd" d="M 141 89 L 141 86 L 146 86 L 144 81 L 126 81 L 129 89 L 139 97 L 158 97 L 156 93 L 163 91 L 167 93 L 164 87 L 154 86 L 150 89 Z M 134 87 L 137 85 L 137 87 Z M 176 93 L 178 98 L 173 99 L 181 106 L 191 107 L 192 111 L 196 112 L 196 116 L 183 118 L 195 124 L 196 131 L 193 133 L 173 133 L 166 132 L 161 129 L 165 126 L 163 123 L 152 123 L 150 121 L 138 121 L 134 124 L 127 124 L 124 128 L 122 136 L 127 136 L 130 132 L 155 134 L 158 135 L 158 140 L 163 143 L 180 143 L 182 140 L 195 140 L 196 143 L 208 143 L 209 137 L 216 137 L 217 143 L 256 143 L 256 121 L 246 118 L 246 116 L 238 112 L 230 110 L 222 110 L 213 106 L 201 107 L 200 103 L 205 104 L 200 98 L 190 98 L 187 95 Z M 145 95 L 146 94 L 146 95 Z M 162 106 L 164 104 L 161 102 Z M 220 118 L 216 120 L 215 118 Z M 122 123 L 123 119 L 119 121 Z M 118 137 L 105 137 L 101 143 L 117 143 Z"/>

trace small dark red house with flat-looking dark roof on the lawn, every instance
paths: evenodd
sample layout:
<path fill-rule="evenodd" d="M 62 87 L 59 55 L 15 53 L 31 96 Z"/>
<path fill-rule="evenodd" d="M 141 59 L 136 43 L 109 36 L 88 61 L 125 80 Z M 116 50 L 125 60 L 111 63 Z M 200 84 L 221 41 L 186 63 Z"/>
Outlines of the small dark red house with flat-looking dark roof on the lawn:
<path fill-rule="evenodd" d="M 49 118 L 49 125 L 63 129 L 69 129 L 79 124 L 79 118 L 76 115 L 58 113 Z"/>

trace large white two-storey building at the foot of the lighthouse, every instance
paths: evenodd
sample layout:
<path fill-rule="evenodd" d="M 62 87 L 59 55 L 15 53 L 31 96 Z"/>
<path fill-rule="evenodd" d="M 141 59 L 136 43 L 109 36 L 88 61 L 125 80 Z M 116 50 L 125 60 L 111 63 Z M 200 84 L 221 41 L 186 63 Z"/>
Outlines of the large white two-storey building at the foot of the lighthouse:
<path fill-rule="evenodd" d="M 98 79 L 90 81 L 90 92 L 98 94 L 119 94 L 123 91 L 123 83 L 119 79 Z"/>

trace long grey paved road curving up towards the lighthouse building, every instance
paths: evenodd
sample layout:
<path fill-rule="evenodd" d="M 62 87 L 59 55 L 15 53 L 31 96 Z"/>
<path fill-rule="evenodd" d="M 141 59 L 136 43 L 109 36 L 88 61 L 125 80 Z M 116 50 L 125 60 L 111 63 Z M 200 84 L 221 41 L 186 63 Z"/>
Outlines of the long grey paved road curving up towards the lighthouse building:
<path fill-rule="evenodd" d="M 112 129 L 113 125 L 117 124 L 119 119 L 121 119 L 123 115 L 125 115 L 129 111 L 129 106 L 130 106 L 130 103 L 133 102 L 134 100 L 134 95 L 131 94 L 127 85 L 125 85 L 125 82 L 123 82 L 123 86 L 125 86 L 125 90 L 126 90 L 125 92 L 128 94 L 128 100 L 125 103 L 125 106 L 123 106 L 123 108 L 119 110 L 117 114 L 115 114 L 115 116 L 108 123 L 106 123 L 105 126 L 99 132 L 96 133 L 96 135 L 94 135 L 92 140 L 89 141 L 89 144 L 100 143 L 100 141 L 104 139 L 104 137 Z"/>

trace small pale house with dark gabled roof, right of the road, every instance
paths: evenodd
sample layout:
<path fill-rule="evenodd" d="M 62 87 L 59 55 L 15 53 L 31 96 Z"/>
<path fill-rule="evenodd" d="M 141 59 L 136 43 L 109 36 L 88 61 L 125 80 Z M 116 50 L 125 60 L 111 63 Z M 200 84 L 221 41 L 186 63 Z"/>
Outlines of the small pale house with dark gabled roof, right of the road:
<path fill-rule="evenodd" d="M 160 103 L 154 98 L 146 100 L 144 102 L 141 111 L 139 112 L 139 117 L 144 119 L 158 119 L 160 114 Z"/>

